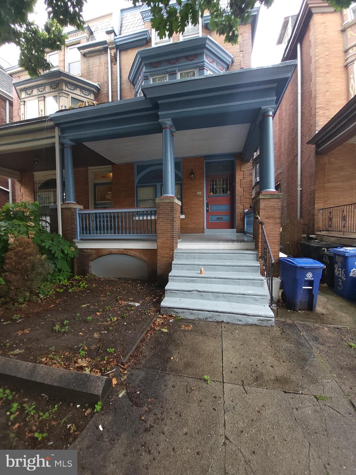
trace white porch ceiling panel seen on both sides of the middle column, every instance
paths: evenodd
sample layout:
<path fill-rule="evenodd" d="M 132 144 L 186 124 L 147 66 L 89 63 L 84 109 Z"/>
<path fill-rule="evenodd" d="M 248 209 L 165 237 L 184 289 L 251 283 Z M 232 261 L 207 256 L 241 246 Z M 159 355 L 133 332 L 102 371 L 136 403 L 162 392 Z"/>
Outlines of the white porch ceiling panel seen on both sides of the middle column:
<path fill-rule="evenodd" d="M 250 124 L 226 125 L 206 129 L 183 130 L 174 134 L 174 155 L 194 157 L 219 153 L 240 153 Z M 141 135 L 85 145 L 113 163 L 158 160 L 162 158 L 162 135 Z"/>

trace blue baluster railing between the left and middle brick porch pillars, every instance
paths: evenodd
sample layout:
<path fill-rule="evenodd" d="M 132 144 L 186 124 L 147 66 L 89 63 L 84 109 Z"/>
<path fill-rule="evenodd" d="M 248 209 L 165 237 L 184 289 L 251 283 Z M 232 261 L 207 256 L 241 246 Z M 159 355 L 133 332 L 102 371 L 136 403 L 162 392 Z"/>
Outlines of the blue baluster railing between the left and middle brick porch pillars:
<path fill-rule="evenodd" d="M 77 209 L 77 239 L 152 239 L 156 208 Z"/>

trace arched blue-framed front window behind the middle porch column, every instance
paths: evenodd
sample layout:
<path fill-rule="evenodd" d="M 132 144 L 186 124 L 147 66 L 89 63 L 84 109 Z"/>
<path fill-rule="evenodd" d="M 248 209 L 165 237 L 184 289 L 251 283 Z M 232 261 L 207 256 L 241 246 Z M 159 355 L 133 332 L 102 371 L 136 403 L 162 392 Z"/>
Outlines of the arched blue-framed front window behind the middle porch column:
<path fill-rule="evenodd" d="M 175 161 L 176 198 L 182 201 L 182 164 Z M 136 163 L 135 186 L 137 208 L 155 208 L 156 198 L 163 194 L 163 168 L 161 162 Z"/>

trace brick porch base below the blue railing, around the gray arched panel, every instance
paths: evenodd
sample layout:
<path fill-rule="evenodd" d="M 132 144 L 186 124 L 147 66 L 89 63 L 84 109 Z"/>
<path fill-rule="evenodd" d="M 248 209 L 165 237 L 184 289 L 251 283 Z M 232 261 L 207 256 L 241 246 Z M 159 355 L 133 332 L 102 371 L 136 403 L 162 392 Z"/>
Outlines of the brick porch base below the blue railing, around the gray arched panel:
<path fill-rule="evenodd" d="M 90 274 L 92 261 L 108 254 L 125 254 L 137 257 L 147 263 L 149 280 L 155 280 L 157 277 L 156 249 L 79 249 L 79 256 L 77 257 L 78 274 L 82 276 Z"/>

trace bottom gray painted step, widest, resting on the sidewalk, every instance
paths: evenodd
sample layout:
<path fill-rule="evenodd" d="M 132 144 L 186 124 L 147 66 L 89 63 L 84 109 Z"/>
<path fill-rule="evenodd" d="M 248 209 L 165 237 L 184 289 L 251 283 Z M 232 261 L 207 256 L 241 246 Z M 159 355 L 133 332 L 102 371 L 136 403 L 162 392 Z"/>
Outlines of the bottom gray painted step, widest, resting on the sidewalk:
<path fill-rule="evenodd" d="M 161 312 L 184 318 L 257 325 L 274 325 L 274 315 L 268 305 L 231 304 L 211 300 L 166 297 Z"/>

